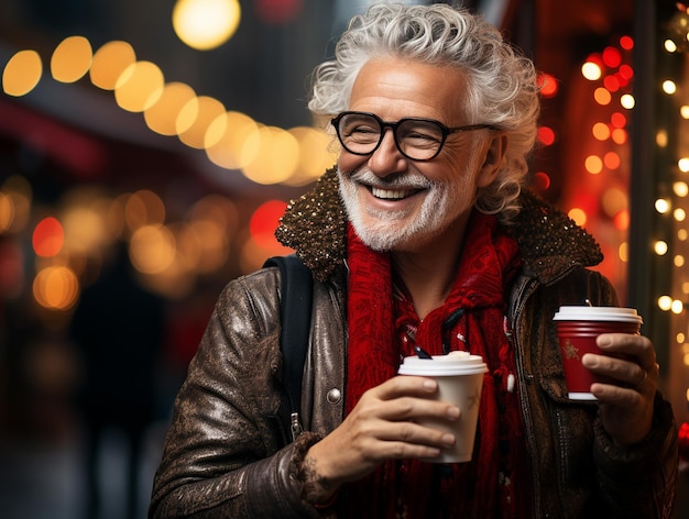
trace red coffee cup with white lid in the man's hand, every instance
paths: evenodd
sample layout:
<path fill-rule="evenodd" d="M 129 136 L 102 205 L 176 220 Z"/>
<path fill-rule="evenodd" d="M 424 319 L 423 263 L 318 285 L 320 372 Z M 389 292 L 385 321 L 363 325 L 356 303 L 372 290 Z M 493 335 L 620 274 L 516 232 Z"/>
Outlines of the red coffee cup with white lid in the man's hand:
<path fill-rule="evenodd" d="M 553 320 L 560 342 L 569 398 L 595 400 L 591 384 L 610 383 L 610 379 L 591 373 L 581 364 L 581 357 L 586 353 L 605 355 L 595 345 L 601 333 L 638 333 L 643 319 L 633 308 L 565 306 Z"/>

